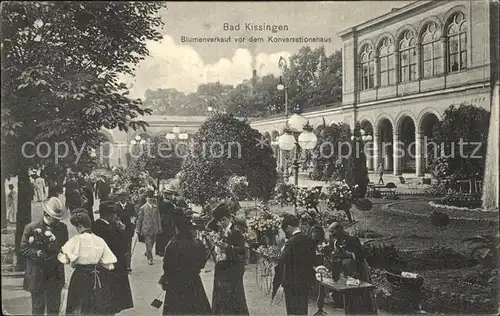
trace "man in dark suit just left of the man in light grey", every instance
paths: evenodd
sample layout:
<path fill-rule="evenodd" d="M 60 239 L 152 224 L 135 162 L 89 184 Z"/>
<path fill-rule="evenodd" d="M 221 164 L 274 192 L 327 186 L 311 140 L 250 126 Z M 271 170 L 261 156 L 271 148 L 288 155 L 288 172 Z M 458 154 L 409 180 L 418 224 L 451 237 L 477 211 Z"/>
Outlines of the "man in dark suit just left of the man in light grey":
<path fill-rule="evenodd" d="M 118 217 L 125 225 L 123 237 L 126 245 L 126 267 L 127 271 L 130 273 L 132 272 L 132 238 L 134 237 L 136 219 L 135 206 L 129 202 L 129 195 L 126 191 L 119 191 L 117 196 L 119 201 L 116 202 L 115 207 Z"/>

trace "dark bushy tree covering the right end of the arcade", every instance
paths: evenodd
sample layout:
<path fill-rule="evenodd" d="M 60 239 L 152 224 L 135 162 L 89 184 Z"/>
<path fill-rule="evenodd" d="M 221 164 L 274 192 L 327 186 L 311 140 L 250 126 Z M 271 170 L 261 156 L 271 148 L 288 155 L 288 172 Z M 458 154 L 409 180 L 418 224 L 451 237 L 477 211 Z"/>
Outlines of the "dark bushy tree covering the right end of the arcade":
<path fill-rule="evenodd" d="M 489 121 L 490 113 L 474 105 L 451 105 L 446 109 L 433 130 L 432 141 L 438 146 L 427 153 L 436 178 L 483 178 Z"/>

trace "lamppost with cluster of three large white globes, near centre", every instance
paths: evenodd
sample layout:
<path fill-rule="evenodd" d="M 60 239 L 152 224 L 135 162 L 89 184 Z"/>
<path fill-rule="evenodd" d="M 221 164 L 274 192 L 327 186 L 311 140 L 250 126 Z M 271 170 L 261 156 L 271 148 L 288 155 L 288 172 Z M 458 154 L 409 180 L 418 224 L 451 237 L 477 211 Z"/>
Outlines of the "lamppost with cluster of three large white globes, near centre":
<path fill-rule="evenodd" d="M 299 184 L 299 152 L 300 149 L 312 150 L 316 147 L 318 138 L 313 133 L 313 128 L 302 115 L 297 106 L 296 112 L 286 121 L 283 134 L 278 138 L 278 145 L 281 150 L 291 151 L 295 149 L 295 158 L 293 161 L 295 186 Z M 293 205 L 294 213 L 297 214 L 297 202 Z"/>

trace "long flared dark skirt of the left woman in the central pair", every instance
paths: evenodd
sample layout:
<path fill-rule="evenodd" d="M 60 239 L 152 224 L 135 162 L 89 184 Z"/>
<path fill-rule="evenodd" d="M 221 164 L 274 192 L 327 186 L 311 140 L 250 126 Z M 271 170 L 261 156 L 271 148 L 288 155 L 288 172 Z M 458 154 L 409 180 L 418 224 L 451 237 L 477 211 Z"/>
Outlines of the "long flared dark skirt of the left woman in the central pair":
<path fill-rule="evenodd" d="M 199 274 L 177 274 L 166 285 L 163 315 L 210 315 L 212 309 Z"/>

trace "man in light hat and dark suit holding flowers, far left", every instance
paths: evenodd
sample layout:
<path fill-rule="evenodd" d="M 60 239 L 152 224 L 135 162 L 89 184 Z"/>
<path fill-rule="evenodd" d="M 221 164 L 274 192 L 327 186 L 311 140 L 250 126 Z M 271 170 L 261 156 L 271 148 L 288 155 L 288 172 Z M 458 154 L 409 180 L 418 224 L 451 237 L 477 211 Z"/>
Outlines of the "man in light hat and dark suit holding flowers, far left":
<path fill-rule="evenodd" d="M 61 247 L 68 241 L 68 228 L 63 203 L 56 197 L 42 202 L 43 218 L 24 228 L 20 255 L 27 258 L 23 288 L 31 293 L 33 315 L 59 314 L 61 290 L 64 286 L 64 265 L 57 260 Z M 45 249 L 33 246 L 35 233 L 52 232 L 55 240 Z"/>

